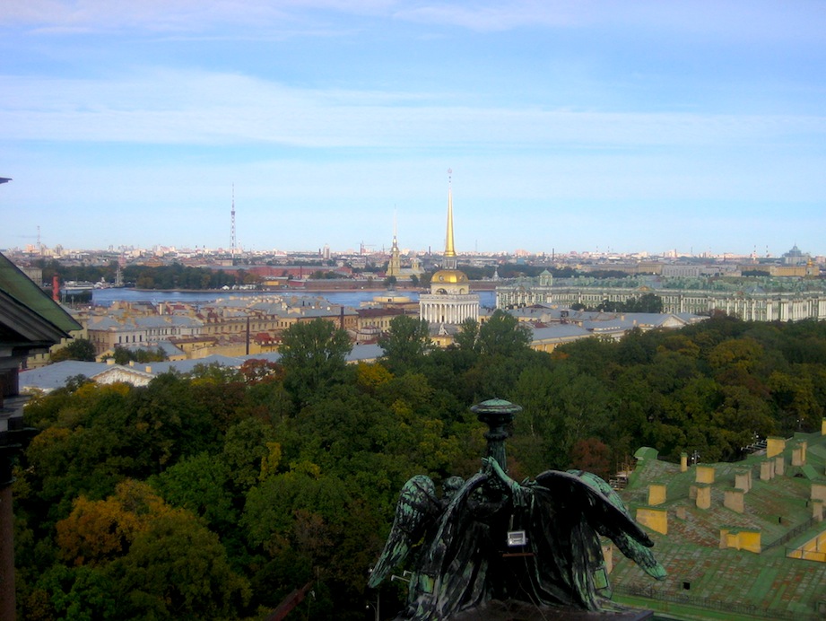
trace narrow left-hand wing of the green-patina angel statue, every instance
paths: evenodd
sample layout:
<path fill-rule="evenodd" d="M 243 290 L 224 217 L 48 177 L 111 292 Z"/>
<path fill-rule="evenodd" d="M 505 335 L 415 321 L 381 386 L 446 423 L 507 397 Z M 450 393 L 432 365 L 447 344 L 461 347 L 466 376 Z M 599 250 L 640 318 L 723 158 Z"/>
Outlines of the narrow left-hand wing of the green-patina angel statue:
<path fill-rule="evenodd" d="M 370 573 L 368 586 L 375 589 L 396 565 L 404 562 L 410 548 L 422 538 L 439 515 L 436 486 L 430 477 L 416 475 L 404 484 L 396 503 L 396 516 L 378 563 Z"/>

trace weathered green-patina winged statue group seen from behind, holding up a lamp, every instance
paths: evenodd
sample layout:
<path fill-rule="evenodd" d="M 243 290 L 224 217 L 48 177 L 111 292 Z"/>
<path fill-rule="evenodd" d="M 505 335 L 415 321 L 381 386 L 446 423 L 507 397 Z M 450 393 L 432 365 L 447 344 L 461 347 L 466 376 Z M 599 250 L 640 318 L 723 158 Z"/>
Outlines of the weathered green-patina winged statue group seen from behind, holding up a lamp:
<path fill-rule="evenodd" d="M 507 475 L 507 425 L 521 407 L 491 399 L 471 409 L 490 427 L 482 468 L 466 481 L 448 478 L 441 498 L 430 477 L 411 478 L 370 574 L 375 588 L 408 560 L 407 608 L 399 619 L 447 619 L 491 599 L 615 610 L 599 535 L 665 578 L 653 542 L 601 478 L 548 470 L 518 484 Z"/>

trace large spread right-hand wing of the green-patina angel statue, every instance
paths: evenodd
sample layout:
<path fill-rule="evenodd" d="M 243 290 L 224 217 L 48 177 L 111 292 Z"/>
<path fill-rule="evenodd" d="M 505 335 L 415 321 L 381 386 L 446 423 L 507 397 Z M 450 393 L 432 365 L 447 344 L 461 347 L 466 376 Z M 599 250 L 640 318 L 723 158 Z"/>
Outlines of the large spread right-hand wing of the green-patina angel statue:
<path fill-rule="evenodd" d="M 603 479 L 589 472 L 548 470 L 536 482 L 553 495 L 555 503 L 573 505 L 591 528 L 610 538 L 623 555 L 657 580 L 665 579 L 665 568 L 649 548 L 654 542 L 630 516 L 622 499 Z"/>

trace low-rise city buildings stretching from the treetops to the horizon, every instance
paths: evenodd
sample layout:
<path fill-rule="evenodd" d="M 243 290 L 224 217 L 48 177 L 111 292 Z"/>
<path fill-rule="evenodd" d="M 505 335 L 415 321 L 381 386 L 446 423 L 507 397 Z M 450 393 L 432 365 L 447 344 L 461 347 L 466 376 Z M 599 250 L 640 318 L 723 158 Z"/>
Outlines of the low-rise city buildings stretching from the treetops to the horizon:
<path fill-rule="evenodd" d="M 60 301 L 83 325 L 81 336 L 91 340 L 96 355 L 104 357 L 116 346 L 161 347 L 170 360 L 275 352 L 284 329 L 316 318 L 347 330 L 354 344 L 374 344 L 397 315 L 421 315 L 432 327 L 431 336 L 448 345 L 450 334 L 464 319 L 484 321 L 495 309 L 503 309 L 532 329 L 534 346 L 543 351 L 575 334 L 619 337 L 635 326 L 684 325 L 714 312 L 754 321 L 826 319 L 824 258 L 796 247 L 781 257 L 761 259 L 491 256 L 456 253 L 449 247 L 444 254 L 419 256 L 401 253 L 394 236 L 389 252 L 358 254 L 330 249 L 240 253 L 234 259 L 220 250 L 175 249 L 118 253 L 9 249 L 4 254 L 47 290 L 52 283 L 44 282 L 44 271 L 55 271 L 54 265 L 46 267 L 48 261 L 57 261 L 63 270 L 79 270 L 78 274 L 101 275 L 93 281 L 58 281 L 58 287 Z M 174 297 L 157 302 L 165 299 L 168 289 L 146 288 L 153 284 L 152 276 L 124 282 L 124 274 L 135 268 L 163 267 L 217 274 L 231 284 L 216 287 L 222 294 L 213 302 L 175 301 Z M 178 276 L 173 278 L 172 284 L 183 283 Z M 203 274 L 199 278 L 196 284 L 204 282 Z M 136 284 L 143 287 L 135 289 Z M 448 293 L 450 287 L 456 291 L 451 288 Z M 118 300 L 117 293 L 109 291 L 121 288 L 143 294 Z M 201 289 L 187 286 L 185 290 Z M 106 291 L 113 302 L 93 303 L 95 292 Z M 370 295 L 353 306 L 327 299 L 342 292 Z M 487 303 L 481 306 L 479 293 L 486 293 Z M 642 296 L 656 301 L 645 309 L 646 314 L 659 317 L 635 319 L 629 311 L 614 311 L 617 304 Z M 143 302 L 131 302 L 141 298 Z M 459 310 L 447 311 L 446 302 L 458 303 Z M 47 362 L 48 356 L 41 354 L 31 358 L 30 366 Z"/>

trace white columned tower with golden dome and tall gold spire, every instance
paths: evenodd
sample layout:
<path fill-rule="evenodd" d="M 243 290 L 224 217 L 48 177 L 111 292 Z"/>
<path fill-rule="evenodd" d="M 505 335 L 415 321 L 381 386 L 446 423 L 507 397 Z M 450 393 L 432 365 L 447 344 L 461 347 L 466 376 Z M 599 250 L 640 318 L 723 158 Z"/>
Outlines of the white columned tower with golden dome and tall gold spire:
<path fill-rule="evenodd" d="M 449 171 L 448 171 L 449 172 Z M 470 293 L 467 275 L 456 268 L 453 244 L 453 193 L 448 181 L 448 233 L 445 237 L 444 265 L 430 278 L 430 293 L 419 296 L 419 317 L 431 328 L 449 332 L 465 319 L 479 320 L 479 296 Z"/>

